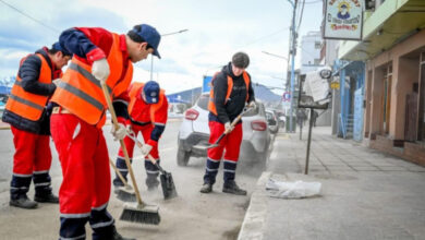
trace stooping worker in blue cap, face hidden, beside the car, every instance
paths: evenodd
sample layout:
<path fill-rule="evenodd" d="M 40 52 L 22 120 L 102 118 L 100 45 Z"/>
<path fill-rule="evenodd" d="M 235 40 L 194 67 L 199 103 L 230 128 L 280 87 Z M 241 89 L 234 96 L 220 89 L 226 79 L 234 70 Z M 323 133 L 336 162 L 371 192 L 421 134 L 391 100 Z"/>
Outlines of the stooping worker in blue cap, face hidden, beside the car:
<path fill-rule="evenodd" d="M 158 141 L 166 129 L 168 101 L 165 91 L 160 89 L 159 84 L 155 81 L 133 83 L 129 87 L 127 93 L 130 103 L 126 128 L 134 132 L 135 137 L 141 132 L 144 139 L 145 144 L 142 148 L 142 154 L 145 155 L 146 185 L 151 191 L 158 188 L 159 169 L 149 160 L 147 155 L 150 154 L 158 164 L 160 163 Z M 135 143 L 129 136 L 124 139 L 124 143 L 129 156 L 132 158 Z M 127 168 L 121 147 L 118 152 L 117 168 L 126 179 Z M 113 185 L 122 187 L 124 183 L 117 176 L 113 180 Z"/>

